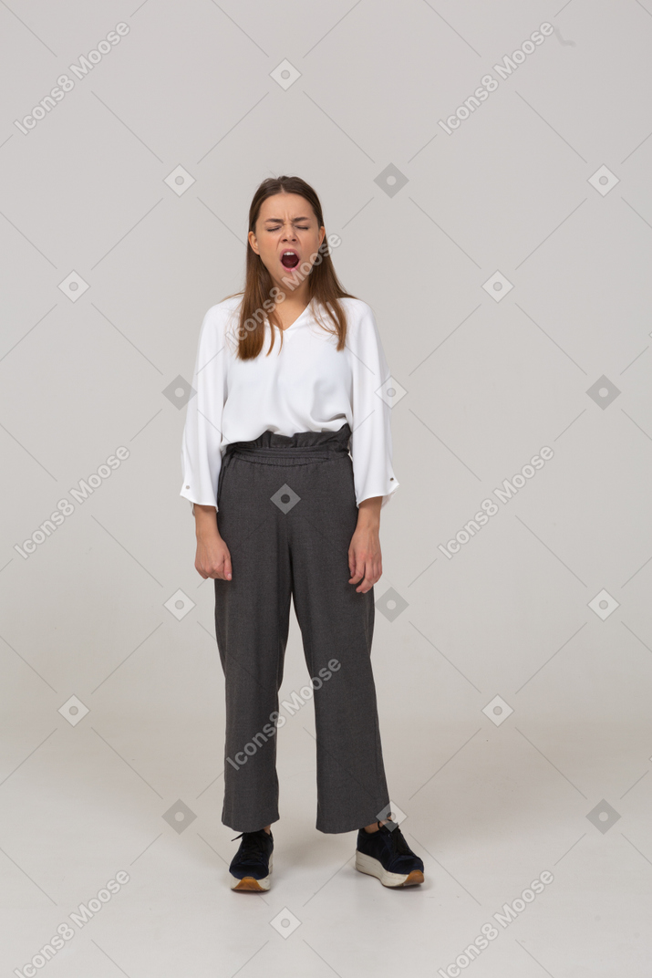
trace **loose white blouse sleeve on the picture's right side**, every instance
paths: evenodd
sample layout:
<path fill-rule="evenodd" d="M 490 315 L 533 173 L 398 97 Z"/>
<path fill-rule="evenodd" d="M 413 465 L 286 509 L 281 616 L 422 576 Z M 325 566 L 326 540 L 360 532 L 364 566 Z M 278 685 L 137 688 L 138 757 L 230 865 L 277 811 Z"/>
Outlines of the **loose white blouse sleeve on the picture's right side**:
<path fill-rule="evenodd" d="M 382 496 L 382 509 L 399 487 L 392 468 L 391 408 L 383 390 L 390 372 L 371 308 L 364 302 L 361 309 L 347 338 L 353 375 L 351 457 L 357 505 Z"/>

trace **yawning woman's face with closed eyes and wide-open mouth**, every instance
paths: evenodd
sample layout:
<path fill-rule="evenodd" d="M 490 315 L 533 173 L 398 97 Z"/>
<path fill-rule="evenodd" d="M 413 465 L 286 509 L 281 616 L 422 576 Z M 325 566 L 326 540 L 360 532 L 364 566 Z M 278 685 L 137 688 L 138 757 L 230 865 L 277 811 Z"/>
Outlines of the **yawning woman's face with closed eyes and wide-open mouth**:
<path fill-rule="evenodd" d="M 255 230 L 248 238 L 275 284 L 280 289 L 296 289 L 310 274 L 325 235 L 326 228 L 318 226 L 305 198 L 275 194 L 263 200 Z"/>

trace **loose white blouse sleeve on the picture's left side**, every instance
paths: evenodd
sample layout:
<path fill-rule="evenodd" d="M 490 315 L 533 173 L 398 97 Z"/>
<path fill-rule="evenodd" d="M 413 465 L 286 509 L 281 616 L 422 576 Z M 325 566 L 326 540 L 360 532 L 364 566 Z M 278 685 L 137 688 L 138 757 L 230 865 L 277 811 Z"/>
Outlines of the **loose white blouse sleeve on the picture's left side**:
<path fill-rule="evenodd" d="M 222 465 L 222 414 L 226 400 L 226 353 L 223 310 L 211 306 L 197 344 L 193 392 L 188 402 L 181 446 L 180 495 L 217 509 L 217 480 Z M 193 508 L 194 509 L 194 508 Z"/>

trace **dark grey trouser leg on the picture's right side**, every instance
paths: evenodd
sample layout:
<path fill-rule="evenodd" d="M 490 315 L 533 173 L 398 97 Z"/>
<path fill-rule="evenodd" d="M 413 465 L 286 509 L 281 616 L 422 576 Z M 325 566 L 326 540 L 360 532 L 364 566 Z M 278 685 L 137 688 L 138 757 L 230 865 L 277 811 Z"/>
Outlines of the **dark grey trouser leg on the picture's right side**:
<path fill-rule="evenodd" d="M 363 594 L 360 582 L 348 583 L 358 519 L 349 456 L 295 473 L 288 482 L 296 482 L 300 502 L 287 526 L 294 608 L 318 687 L 316 827 L 347 832 L 374 822 L 389 804 L 370 662 L 373 588 Z M 320 672 L 327 677 L 321 685 Z"/>

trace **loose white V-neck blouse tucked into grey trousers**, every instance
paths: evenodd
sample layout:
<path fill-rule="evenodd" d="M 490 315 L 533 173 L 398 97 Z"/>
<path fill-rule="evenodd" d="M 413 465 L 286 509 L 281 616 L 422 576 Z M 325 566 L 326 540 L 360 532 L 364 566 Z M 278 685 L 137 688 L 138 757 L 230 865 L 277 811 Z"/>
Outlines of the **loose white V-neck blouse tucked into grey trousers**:
<path fill-rule="evenodd" d="M 382 496 L 389 502 L 399 482 L 392 469 L 392 435 L 385 382 L 389 369 L 373 313 L 362 299 L 340 298 L 346 312 L 346 345 L 326 333 L 310 303 L 282 337 L 269 321 L 263 348 L 253 360 L 236 351 L 241 296 L 210 307 L 203 318 L 181 448 L 180 495 L 217 509 L 217 480 L 226 446 L 265 430 L 336 431 L 351 426 L 350 453 L 356 504 Z M 320 309 L 330 329 L 332 321 Z M 383 400 L 384 395 L 384 400 Z"/>

